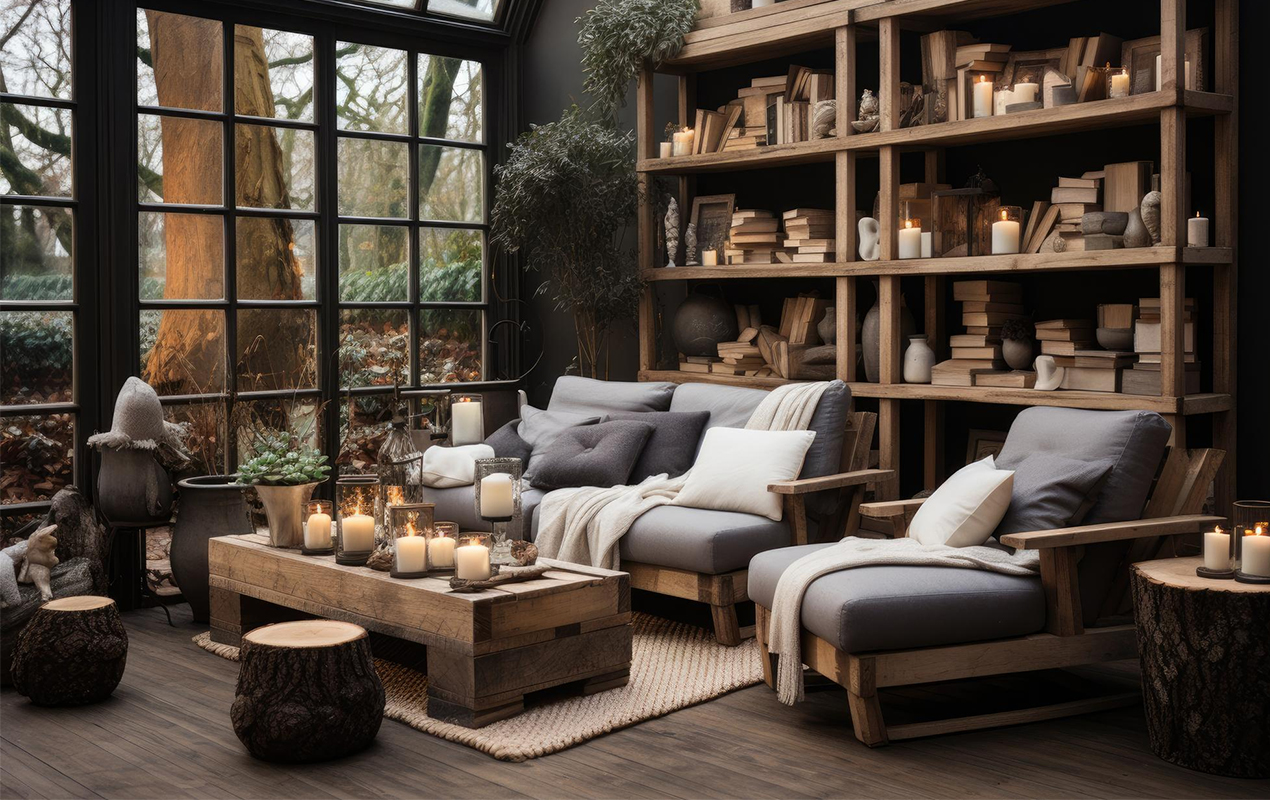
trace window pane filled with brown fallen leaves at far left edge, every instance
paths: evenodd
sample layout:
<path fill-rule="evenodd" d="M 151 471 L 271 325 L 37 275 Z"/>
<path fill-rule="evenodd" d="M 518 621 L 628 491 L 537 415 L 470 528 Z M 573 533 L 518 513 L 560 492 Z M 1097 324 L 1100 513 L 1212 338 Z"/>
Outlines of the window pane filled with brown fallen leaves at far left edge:
<path fill-rule="evenodd" d="M 74 414 L 5 417 L 0 420 L 0 502 L 9 505 L 52 499 L 71 483 L 74 456 Z"/>

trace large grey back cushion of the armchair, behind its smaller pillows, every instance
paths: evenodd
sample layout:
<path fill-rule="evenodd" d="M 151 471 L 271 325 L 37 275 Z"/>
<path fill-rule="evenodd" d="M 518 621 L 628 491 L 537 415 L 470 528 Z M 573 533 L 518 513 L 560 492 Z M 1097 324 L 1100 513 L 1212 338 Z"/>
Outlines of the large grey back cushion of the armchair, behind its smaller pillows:
<path fill-rule="evenodd" d="M 1078 461 L 1111 461 L 1085 524 L 1138 519 L 1160 469 L 1172 428 L 1154 411 L 1090 411 L 1030 408 L 1010 427 L 996 463 L 1013 470 L 1031 453 Z M 1128 542 L 1091 545 L 1080 565 L 1081 607 L 1086 625 L 1097 621 Z"/>

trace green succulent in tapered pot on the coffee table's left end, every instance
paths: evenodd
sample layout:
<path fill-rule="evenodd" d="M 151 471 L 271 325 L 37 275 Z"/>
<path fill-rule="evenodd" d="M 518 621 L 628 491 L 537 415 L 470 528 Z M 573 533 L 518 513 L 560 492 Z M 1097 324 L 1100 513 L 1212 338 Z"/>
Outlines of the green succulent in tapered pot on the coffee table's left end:
<path fill-rule="evenodd" d="M 298 547 L 304 541 L 300 508 L 326 480 L 326 456 L 300 446 L 286 432 L 260 437 L 254 450 L 255 456 L 239 465 L 237 483 L 255 486 L 260 495 L 269 519 L 269 543 Z"/>

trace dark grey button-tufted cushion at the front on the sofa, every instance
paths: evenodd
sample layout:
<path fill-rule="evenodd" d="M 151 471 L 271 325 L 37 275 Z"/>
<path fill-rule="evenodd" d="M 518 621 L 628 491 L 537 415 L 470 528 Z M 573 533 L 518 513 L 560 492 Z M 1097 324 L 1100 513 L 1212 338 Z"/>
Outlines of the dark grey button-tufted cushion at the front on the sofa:
<path fill-rule="evenodd" d="M 653 425 L 616 420 L 572 428 L 533 458 L 536 489 L 622 486 L 653 434 Z"/>

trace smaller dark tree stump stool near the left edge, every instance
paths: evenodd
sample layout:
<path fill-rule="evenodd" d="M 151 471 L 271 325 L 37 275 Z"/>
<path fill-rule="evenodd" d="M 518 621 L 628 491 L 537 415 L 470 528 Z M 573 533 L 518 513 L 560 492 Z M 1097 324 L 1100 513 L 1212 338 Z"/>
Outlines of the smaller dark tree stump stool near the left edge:
<path fill-rule="evenodd" d="M 64 597 L 39 607 L 18 634 L 14 687 L 39 706 L 105 700 L 128 660 L 128 634 L 109 597 Z"/>

